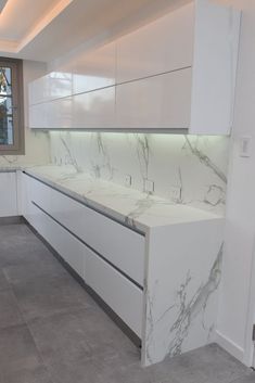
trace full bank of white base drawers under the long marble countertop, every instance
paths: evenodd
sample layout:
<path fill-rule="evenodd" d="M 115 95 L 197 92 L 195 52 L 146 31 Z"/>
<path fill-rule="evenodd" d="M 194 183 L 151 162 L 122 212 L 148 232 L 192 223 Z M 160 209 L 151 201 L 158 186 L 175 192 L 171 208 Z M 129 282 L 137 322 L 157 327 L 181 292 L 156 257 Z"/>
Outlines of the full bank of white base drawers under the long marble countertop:
<path fill-rule="evenodd" d="M 143 235 L 25 174 L 22 190 L 28 222 L 141 339 Z"/>

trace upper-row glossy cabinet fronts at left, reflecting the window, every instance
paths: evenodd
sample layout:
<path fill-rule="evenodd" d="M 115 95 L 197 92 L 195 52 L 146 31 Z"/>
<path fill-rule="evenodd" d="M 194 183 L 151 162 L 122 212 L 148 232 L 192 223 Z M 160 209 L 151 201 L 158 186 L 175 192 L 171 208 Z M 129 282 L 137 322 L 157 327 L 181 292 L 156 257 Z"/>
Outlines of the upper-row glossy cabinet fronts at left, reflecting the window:
<path fill-rule="evenodd" d="M 115 85 L 116 43 L 80 52 L 59 71 L 29 84 L 29 104 L 49 102 Z"/>

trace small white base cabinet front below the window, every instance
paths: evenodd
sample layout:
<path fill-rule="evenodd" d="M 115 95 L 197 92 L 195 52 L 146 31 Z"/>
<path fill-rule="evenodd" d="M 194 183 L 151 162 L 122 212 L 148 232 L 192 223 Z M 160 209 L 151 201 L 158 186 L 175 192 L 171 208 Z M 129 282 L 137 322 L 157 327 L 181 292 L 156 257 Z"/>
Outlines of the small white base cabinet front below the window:
<path fill-rule="evenodd" d="M 0 217 L 17 215 L 16 173 L 0 173 Z"/>

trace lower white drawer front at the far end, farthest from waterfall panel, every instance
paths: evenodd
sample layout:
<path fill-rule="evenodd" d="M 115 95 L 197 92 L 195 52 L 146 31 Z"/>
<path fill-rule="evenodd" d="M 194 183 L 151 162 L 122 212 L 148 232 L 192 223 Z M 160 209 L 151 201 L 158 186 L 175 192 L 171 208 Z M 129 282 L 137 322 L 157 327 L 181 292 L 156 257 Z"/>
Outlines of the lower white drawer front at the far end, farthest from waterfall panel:
<path fill-rule="evenodd" d="M 84 279 L 86 247 L 75 237 L 30 203 L 29 222 Z"/>

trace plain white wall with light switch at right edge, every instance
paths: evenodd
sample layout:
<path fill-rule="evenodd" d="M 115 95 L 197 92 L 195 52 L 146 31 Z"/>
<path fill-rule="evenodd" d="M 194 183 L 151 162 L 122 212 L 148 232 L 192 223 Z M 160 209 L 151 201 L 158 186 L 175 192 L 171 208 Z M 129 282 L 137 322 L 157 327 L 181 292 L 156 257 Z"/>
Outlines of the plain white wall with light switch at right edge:
<path fill-rule="evenodd" d="M 252 323 L 255 323 L 255 288 L 251 284 L 255 235 L 255 1 L 229 2 L 240 7 L 243 15 L 218 332 L 221 345 L 251 366 Z M 240 156 L 242 136 L 252 138 L 250 158 Z"/>

